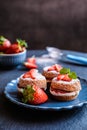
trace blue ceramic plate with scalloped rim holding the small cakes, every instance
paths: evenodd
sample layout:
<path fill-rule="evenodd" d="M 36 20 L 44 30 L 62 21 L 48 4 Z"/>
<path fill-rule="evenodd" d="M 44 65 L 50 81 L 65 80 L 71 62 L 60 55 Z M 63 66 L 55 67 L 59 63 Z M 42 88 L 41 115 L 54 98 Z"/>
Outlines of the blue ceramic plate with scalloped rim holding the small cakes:
<path fill-rule="evenodd" d="M 48 93 L 49 100 L 41 105 L 30 105 L 22 103 L 20 98 L 17 95 L 17 79 L 12 80 L 10 83 L 7 84 L 5 87 L 4 93 L 5 96 L 13 103 L 20 105 L 25 108 L 29 109 L 37 109 L 37 110 L 66 110 L 72 109 L 76 107 L 81 107 L 87 103 L 87 81 L 84 79 L 81 80 L 82 90 L 80 91 L 79 96 L 73 100 L 68 102 L 59 102 L 51 98 L 51 95 Z"/>

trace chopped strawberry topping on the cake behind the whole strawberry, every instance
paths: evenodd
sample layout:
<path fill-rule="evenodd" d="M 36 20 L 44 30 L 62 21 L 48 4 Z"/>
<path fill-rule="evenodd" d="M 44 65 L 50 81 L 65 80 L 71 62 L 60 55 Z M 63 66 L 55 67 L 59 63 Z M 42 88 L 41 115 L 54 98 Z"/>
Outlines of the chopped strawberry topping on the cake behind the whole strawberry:
<path fill-rule="evenodd" d="M 30 71 L 26 72 L 23 75 L 23 78 L 32 78 L 32 79 L 35 79 L 36 73 L 38 73 L 37 69 L 31 69 Z"/>

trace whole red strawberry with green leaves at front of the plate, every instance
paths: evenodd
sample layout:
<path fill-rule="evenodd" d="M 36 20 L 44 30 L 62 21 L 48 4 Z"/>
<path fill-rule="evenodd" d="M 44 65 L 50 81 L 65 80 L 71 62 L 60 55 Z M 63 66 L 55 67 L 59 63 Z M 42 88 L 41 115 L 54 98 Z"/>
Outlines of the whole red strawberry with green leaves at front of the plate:
<path fill-rule="evenodd" d="M 23 91 L 23 99 L 24 103 L 30 104 L 41 104 L 48 100 L 47 94 L 38 86 L 27 86 Z"/>

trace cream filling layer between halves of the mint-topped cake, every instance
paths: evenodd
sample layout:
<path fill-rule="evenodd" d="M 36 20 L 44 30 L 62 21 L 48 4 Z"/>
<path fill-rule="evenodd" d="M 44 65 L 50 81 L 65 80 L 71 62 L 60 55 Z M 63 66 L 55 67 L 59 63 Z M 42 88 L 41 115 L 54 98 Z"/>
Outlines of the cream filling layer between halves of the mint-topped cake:
<path fill-rule="evenodd" d="M 74 96 L 76 94 L 79 94 L 79 91 L 61 93 L 61 92 L 55 92 L 55 91 L 53 91 L 53 90 L 50 89 L 50 93 L 52 95 L 54 95 L 54 96 Z"/>

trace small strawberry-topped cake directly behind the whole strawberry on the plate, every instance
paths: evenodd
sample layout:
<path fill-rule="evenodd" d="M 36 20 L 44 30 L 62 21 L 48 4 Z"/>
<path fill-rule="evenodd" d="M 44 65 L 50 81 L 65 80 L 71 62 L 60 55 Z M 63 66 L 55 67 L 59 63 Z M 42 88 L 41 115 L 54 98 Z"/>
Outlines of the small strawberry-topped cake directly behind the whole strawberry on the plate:
<path fill-rule="evenodd" d="M 44 90 L 47 88 L 46 78 L 37 69 L 31 69 L 21 75 L 18 80 L 18 91 L 22 92 L 27 85 L 36 85 Z"/>

